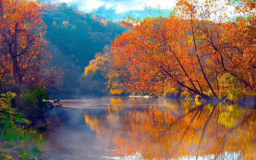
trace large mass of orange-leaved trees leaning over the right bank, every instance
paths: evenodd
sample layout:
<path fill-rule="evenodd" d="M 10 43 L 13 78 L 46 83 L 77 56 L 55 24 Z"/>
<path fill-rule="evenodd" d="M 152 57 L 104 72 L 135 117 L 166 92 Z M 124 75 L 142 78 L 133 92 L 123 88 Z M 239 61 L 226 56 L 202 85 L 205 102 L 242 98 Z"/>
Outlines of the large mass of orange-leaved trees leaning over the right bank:
<path fill-rule="evenodd" d="M 121 23 L 130 30 L 85 68 L 103 70 L 113 93 L 158 96 L 174 88 L 206 100 L 256 94 L 254 1 L 179 0 L 169 16 Z"/>

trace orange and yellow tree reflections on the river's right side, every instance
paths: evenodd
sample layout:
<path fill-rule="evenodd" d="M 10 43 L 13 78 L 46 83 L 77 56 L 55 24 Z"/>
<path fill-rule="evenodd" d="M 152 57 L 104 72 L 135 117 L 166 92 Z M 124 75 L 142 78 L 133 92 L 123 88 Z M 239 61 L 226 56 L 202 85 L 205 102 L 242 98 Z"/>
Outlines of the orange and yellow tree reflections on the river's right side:
<path fill-rule="evenodd" d="M 85 122 L 97 134 L 114 140 L 116 156 L 136 154 L 137 150 L 146 159 L 256 158 L 255 110 L 197 104 L 181 103 L 182 115 L 176 106 L 122 112 L 110 107 L 109 114 L 101 120 L 85 116 Z"/>

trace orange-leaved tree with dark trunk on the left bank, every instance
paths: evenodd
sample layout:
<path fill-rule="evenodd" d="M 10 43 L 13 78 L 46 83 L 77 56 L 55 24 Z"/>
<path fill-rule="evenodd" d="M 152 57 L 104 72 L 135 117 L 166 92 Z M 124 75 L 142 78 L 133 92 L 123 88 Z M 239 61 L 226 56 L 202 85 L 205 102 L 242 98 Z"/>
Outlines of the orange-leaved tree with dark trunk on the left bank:
<path fill-rule="evenodd" d="M 39 1 L 0 1 L 0 78 L 27 86 L 52 83 L 54 70 L 44 68 L 50 54 Z"/>

